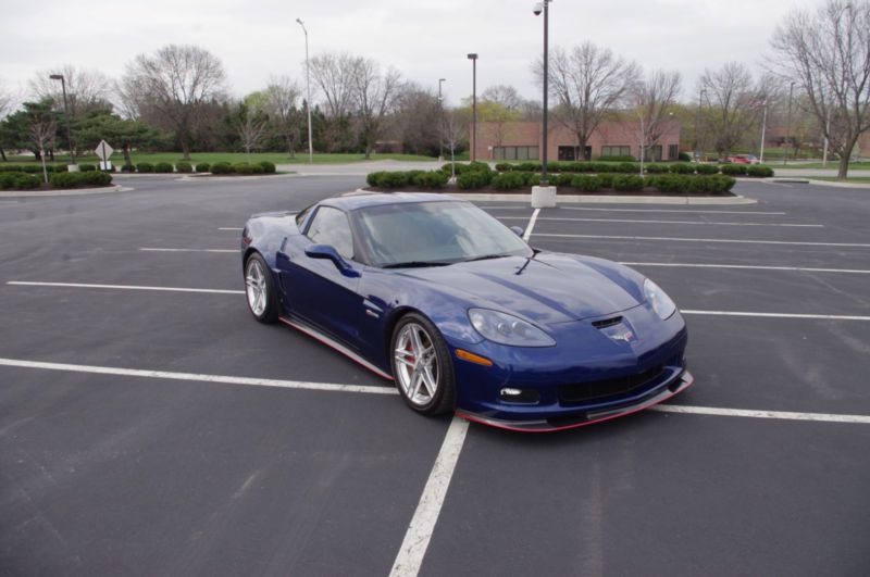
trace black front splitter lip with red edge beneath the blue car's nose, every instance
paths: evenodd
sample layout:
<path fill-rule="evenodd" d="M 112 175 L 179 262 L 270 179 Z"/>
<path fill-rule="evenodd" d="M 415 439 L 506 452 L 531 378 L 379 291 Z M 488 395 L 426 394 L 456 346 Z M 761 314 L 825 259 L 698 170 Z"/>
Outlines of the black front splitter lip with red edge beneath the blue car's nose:
<path fill-rule="evenodd" d="M 486 415 L 471 413 L 464 410 L 457 410 L 456 415 L 474 423 L 482 423 L 493 427 L 508 430 L 519 430 L 526 432 L 549 432 L 555 430 L 573 429 L 601 423 L 621 416 L 630 415 L 644 409 L 648 409 L 662 401 L 667 401 L 674 394 L 684 391 L 695 382 L 695 377 L 688 371 L 674 369 L 674 374 L 666 378 L 661 385 L 646 391 L 639 398 L 627 401 L 619 406 L 608 409 L 586 410 L 577 412 L 566 412 L 564 414 L 549 418 L 534 421 L 506 421 Z"/>

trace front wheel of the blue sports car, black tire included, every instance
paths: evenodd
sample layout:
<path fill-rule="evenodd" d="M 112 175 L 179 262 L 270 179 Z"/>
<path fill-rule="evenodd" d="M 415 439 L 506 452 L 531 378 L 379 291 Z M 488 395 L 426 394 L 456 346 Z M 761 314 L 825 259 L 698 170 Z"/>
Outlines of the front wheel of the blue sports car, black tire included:
<path fill-rule="evenodd" d="M 408 347 L 413 348 L 412 337 L 414 333 L 418 334 L 423 347 L 423 353 L 420 355 L 414 350 L 408 350 Z M 453 411 L 456 409 L 456 374 L 453 373 L 453 363 L 447 342 L 437 327 L 421 314 L 408 313 L 396 323 L 389 344 L 390 363 L 396 387 L 408 406 L 424 415 L 439 415 Z M 400 347 L 407 352 L 397 353 L 396 351 Z M 400 362 L 397 359 L 400 355 L 402 355 L 405 362 Z M 434 372 L 430 362 L 433 356 L 436 362 L 436 371 Z M 418 365 L 420 368 L 411 368 L 408 364 L 409 360 L 417 363 L 418 358 L 422 363 Z M 413 384 L 417 382 L 414 375 L 418 371 L 422 372 L 420 376 L 422 384 L 414 389 Z M 431 381 L 435 384 L 435 392 L 434 394 L 426 394 Z M 426 391 L 421 389 L 426 389 Z M 418 392 L 411 397 L 414 390 Z"/>

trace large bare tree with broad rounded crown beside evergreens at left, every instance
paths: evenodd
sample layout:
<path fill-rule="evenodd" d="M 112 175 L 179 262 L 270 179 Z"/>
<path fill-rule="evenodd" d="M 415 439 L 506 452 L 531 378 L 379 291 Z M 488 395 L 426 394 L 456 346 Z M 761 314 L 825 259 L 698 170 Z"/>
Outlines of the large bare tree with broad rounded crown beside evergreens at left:
<path fill-rule="evenodd" d="M 224 98 L 225 78 L 221 61 L 208 50 L 169 45 L 127 64 L 121 93 L 134 117 L 175 130 L 184 159 L 190 160 L 199 113 L 209 102 Z"/>

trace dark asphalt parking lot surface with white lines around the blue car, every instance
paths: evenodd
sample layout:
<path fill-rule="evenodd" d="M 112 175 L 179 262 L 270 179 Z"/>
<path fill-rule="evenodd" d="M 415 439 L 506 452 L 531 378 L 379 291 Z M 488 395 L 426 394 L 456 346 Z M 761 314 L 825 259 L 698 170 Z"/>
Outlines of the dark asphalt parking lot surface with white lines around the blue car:
<path fill-rule="evenodd" d="M 523 435 L 417 416 L 250 317 L 247 216 L 362 183 L 0 201 L 0 574 L 867 574 L 870 190 L 537 213 L 534 247 L 671 294 L 696 384 Z"/>

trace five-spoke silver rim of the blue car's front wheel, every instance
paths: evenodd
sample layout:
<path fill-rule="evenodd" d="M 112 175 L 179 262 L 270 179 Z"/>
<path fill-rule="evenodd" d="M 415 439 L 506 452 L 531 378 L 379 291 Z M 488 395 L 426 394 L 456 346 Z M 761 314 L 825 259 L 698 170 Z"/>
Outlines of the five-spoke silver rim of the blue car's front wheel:
<path fill-rule="evenodd" d="M 438 355 L 426 330 L 408 323 L 396 339 L 393 352 L 396 378 L 405 396 L 417 406 L 425 406 L 438 390 Z"/>

